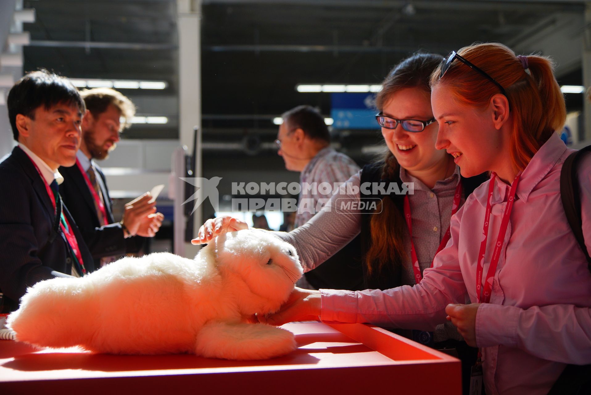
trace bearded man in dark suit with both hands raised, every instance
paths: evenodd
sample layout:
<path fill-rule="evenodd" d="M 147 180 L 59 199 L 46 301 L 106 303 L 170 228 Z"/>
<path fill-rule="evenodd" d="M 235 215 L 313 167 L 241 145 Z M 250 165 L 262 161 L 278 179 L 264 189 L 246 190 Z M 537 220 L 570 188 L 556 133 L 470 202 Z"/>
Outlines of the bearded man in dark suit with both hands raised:
<path fill-rule="evenodd" d="M 60 169 L 60 193 L 80 228 L 97 267 L 128 252 L 138 252 L 144 237 L 153 237 L 164 216 L 156 213 L 149 193 L 125 205 L 121 222 L 115 222 L 105 175 L 95 163 L 115 149 L 119 133 L 135 114 L 133 103 L 110 88 L 80 92 L 86 104 L 82 143 L 76 164 Z M 124 119 L 124 124 L 121 124 Z"/>

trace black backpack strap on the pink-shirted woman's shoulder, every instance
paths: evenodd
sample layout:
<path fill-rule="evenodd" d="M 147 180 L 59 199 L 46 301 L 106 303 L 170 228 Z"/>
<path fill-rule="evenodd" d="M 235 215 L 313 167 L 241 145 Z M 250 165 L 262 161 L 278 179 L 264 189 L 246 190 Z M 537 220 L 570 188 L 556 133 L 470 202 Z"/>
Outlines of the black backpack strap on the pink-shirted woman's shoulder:
<path fill-rule="evenodd" d="M 562 170 L 560 171 L 560 199 L 562 200 L 564 213 L 566 213 L 566 219 L 569 221 L 574 237 L 577 239 L 581 250 L 583 250 L 583 254 L 587 258 L 589 271 L 591 271 L 591 257 L 589 257 L 589 251 L 587 251 L 583 237 L 581 199 L 579 179 L 577 177 L 577 161 L 587 151 L 591 151 L 591 145 L 587 145 L 582 150 L 570 154 L 564 161 Z"/>

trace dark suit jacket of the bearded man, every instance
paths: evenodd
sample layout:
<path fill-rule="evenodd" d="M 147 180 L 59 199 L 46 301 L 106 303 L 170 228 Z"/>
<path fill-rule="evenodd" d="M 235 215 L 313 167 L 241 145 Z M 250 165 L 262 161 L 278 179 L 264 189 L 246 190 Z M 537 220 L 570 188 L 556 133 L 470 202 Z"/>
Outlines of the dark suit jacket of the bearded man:
<path fill-rule="evenodd" d="M 60 185 L 60 195 L 64 203 L 69 206 L 74 221 L 76 221 L 86 245 L 95 258 L 95 266 L 100 267 L 100 258 L 102 257 L 138 252 L 144 243 L 144 238 L 126 239 L 121 224 L 119 222 L 113 224 L 115 222 L 112 212 L 113 203 L 106 186 L 105 174 L 96 164 L 95 169 L 96 182 L 103 195 L 106 220 L 109 225 L 101 226 L 92 194 L 76 164 L 72 167 L 60 167 L 60 174 L 64 177 L 64 182 Z"/>

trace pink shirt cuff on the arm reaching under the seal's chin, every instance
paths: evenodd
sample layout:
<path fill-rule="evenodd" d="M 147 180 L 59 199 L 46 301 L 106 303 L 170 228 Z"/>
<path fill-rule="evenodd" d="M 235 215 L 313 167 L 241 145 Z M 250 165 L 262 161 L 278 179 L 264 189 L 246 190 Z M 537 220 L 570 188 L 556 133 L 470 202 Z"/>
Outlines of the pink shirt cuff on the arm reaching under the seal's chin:
<path fill-rule="evenodd" d="M 321 289 L 320 320 L 322 322 L 357 322 L 357 295 L 355 292 Z"/>

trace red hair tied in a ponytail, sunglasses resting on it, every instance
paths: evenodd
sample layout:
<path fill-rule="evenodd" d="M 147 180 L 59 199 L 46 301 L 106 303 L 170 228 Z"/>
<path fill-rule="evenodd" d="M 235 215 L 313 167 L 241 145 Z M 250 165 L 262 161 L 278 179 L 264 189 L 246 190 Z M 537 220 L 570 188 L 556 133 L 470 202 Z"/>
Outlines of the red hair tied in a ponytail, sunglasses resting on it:
<path fill-rule="evenodd" d="M 498 43 L 473 44 L 457 53 L 505 88 L 513 115 L 509 156 L 514 170 L 524 169 L 566 121 L 564 96 L 554 77 L 552 61 L 529 55 L 522 62 L 510 48 Z M 449 86 L 460 104 L 482 108 L 499 93 L 498 86 L 460 61 L 454 61 L 441 79 L 440 71 L 441 67 L 437 67 L 431 75 L 431 86 Z"/>

